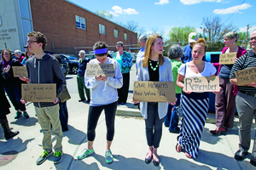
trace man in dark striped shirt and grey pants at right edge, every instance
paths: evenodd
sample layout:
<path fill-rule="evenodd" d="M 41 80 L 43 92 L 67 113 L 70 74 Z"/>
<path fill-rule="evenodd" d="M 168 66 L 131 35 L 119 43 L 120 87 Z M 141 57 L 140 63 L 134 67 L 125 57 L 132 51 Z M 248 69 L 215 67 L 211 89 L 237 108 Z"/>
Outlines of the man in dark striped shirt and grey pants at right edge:
<path fill-rule="evenodd" d="M 256 66 L 256 30 L 250 37 L 252 50 L 236 60 L 230 72 L 230 82 L 238 85 L 235 72 Z M 239 116 L 239 150 L 236 151 L 235 159 L 242 161 L 248 154 L 251 142 L 251 127 L 253 117 L 256 116 L 256 82 L 238 85 L 236 95 L 236 108 Z M 253 153 L 250 163 L 256 167 L 256 141 L 254 134 Z"/>

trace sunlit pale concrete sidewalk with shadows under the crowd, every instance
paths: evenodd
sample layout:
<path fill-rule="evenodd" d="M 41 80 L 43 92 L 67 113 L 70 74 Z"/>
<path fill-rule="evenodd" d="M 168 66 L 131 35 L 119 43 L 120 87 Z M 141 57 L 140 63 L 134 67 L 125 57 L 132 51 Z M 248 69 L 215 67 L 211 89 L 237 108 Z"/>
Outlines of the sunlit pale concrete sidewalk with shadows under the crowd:
<path fill-rule="evenodd" d="M 68 76 L 67 88 L 69 89 L 71 81 L 75 81 L 75 75 Z M 76 88 L 76 87 L 70 87 Z M 112 164 L 105 162 L 104 154 L 106 147 L 106 125 L 104 113 L 99 119 L 96 127 L 96 139 L 94 143 L 95 153 L 82 161 L 77 160 L 79 153 L 87 147 L 86 127 L 89 105 L 78 102 L 79 96 L 71 90 L 72 99 L 67 101 L 69 114 L 69 130 L 64 132 L 63 138 L 63 159 L 61 163 L 54 165 L 54 156 L 42 165 L 37 166 L 36 160 L 42 150 L 43 134 L 39 133 L 40 126 L 35 116 L 32 104 L 27 105 L 27 112 L 31 116 L 29 119 L 21 117 L 15 120 L 14 108 L 11 108 L 9 114 L 9 125 L 14 131 L 19 130 L 20 134 L 14 139 L 6 141 L 3 137 L 3 129 L 0 128 L 0 153 L 9 150 L 18 151 L 15 159 L 6 165 L 3 162 L 9 161 L 10 157 L 0 156 L 0 169 L 20 169 L 20 170 L 77 170 L 77 169 L 255 169 L 251 166 L 250 154 L 244 161 L 236 161 L 234 154 L 238 150 L 238 118 L 235 118 L 235 126 L 229 129 L 226 135 L 212 136 L 209 130 L 215 128 L 215 116 L 208 115 L 206 126 L 201 138 L 199 156 L 196 159 L 187 158 L 184 153 L 177 153 L 175 145 L 177 143 L 177 134 L 169 133 L 168 128 L 163 127 L 163 135 L 158 154 L 160 155 L 160 167 L 154 167 L 151 162 L 146 164 L 144 157 L 148 151 L 145 136 L 145 125 L 142 117 L 137 116 L 116 116 L 115 135 L 112 144 L 112 153 L 114 161 Z M 131 104 L 131 94 L 126 105 L 118 106 L 119 115 L 134 115 L 139 113 L 137 108 Z M 255 127 L 252 127 L 252 143 Z M 55 141 L 55 138 L 52 139 Z M 253 148 L 251 147 L 249 152 Z M 3 165 L 3 166 L 2 166 Z"/>

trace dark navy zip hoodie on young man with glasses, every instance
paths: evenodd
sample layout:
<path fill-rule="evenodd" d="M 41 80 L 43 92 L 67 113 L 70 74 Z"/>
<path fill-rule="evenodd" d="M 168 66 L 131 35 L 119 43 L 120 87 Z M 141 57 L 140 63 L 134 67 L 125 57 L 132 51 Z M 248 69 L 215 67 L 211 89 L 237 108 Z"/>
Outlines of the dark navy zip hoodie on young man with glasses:
<path fill-rule="evenodd" d="M 37 59 L 35 56 L 27 59 L 26 71 L 30 83 L 55 83 L 56 97 L 61 94 L 66 86 L 60 63 L 49 54 L 45 54 L 41 59 Z M 57 104 L 53 102 L 34 102 L 34 105 L 36 107 L 49 107 Z"/>

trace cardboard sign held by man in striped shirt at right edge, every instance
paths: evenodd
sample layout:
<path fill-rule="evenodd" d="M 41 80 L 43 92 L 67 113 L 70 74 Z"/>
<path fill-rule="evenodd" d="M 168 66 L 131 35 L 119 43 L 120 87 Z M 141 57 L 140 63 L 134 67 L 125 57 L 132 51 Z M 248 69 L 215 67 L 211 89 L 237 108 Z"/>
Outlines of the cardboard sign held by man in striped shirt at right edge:
<path fill-rule="evenodd" d="M 238 85 L 256 82 L 256 67 L 248 68 L 242 71 L 236 71 Z"/>

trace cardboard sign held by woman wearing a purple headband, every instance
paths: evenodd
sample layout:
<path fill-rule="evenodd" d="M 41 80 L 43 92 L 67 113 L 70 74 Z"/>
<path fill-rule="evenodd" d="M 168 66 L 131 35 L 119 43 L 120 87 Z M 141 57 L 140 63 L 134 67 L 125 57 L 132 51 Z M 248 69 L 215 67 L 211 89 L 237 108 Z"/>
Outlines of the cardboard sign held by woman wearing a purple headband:
<path fill-rule="evenodd" d="M 102 74 L 102 77 L 114 77 L 114 65 L 101 63 L 87 64 L 85 77 L 96 77 L 100 74 Z"/>

